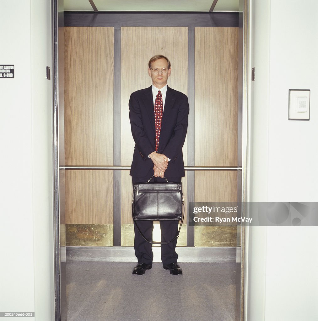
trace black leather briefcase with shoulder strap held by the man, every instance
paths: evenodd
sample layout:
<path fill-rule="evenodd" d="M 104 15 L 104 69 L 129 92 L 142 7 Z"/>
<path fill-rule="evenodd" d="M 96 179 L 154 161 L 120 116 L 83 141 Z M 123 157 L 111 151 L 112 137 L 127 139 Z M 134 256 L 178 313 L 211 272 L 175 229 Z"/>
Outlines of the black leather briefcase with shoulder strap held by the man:
<path fill-rule="evenodd" d="M 151 182 L 153 176 L 145 183 L 133 184 L 132 218 L 136 221 L 181 221 L 184 218 L 184 196 L 181 183 Z M 179 236 L 179 232 L 174 239 Z M 139 230 L 138 225 L 136 224 Z M 141 231 L 139 230 L 141 233 Z M 152 244 L 168 244 L 172 242 L 153 242 L 142 237 Z"/>

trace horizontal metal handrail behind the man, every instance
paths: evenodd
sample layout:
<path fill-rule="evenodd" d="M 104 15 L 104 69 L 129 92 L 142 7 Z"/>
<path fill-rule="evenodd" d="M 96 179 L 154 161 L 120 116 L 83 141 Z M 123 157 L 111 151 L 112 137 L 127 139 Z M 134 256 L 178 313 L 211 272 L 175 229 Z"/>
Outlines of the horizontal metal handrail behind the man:
<path fill-rule="evenodd" d="M 59 169 L 130 170 L 130 166 L 64 165 Z M 242 170 L 241 166 L 185 166 L 185 170 Z"/>

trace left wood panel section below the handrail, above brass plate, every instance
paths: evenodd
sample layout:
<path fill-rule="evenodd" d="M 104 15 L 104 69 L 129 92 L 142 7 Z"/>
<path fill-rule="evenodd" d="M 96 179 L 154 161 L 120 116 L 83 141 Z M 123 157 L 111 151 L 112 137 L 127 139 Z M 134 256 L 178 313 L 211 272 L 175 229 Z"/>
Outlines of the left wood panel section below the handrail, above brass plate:
<path fill-rule="evenodd" d="M 66 224 L 113 224 L 113 172 L 65 171 Z"/>

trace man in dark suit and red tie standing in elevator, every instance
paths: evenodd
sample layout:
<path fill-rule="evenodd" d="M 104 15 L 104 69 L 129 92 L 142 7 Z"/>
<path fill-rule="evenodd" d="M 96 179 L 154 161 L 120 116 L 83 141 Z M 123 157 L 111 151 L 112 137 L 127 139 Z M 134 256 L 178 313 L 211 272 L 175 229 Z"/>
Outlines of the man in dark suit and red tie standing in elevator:
<path fill-rule="evenodd" d="M 149 88 L 135 91 L 129 100 L 129 119 L 136 143 L 130 175 L 133 183 L 152 181 L 181 182 L 185 176 L 182 146 L 186 139 L 189 104 L 185 94 L 167 86 L 171 64 L 167 57 L 153 56 L 148 64 L 152 79 Z M 153 221 L 138 221 L 141 232 L 152 240 Z M 160 221 L 161 242 L 176 236 L 178 221 Z M 171 274 L 182 274 L 175 251 L 177 239 L 161 245 L 163 268 Z M 151 244 L 135 226 L 135 254 L 138 265 L 132 274 L 144 274 L 151 269 Z"/>

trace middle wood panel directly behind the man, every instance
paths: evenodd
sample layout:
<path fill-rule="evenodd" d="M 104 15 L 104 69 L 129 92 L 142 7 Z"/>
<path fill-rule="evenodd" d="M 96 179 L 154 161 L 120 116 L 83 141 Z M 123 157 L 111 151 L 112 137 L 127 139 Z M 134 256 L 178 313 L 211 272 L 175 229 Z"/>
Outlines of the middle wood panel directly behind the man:
<path fill-rule="evenodd" d="M 130 165 L 134 141 L 132 139 L 128 101 L 133 91 L 151 85 L 148 61 L 154 55 L 167 56 L 171 61 L 168 86 L 187 94 L 187 28 L 185 27 L 123 27 L 122 49 L 122 164 Z M 191 107 L 190 107 L 191 108 Z M 186 164 L 186 142 L 183 147 Z M 186 191 L 186 186 L 184 185 Z M 132 223 L 132 180 L 122 172 L 122 224 Z"/>

